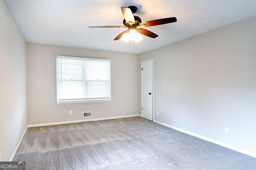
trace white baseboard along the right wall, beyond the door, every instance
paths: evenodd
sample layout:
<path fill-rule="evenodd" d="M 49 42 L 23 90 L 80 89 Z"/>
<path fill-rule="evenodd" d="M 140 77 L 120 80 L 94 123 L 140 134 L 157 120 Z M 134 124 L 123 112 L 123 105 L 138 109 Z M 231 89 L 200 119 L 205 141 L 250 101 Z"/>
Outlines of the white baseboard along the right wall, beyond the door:
<path fill-rule="evenodd" d="M 175 130 L 177 130 L 177 131 L 186 133 L 186 134 L 188 134 L 188 135 L 192 135 L 192 136 L 194 136 L 194 137 L 198 137 L 198 138 L 200 138 L 200 139 L 203 139 L 203 140 L 206 140 L 206 141 L 215 143 L 215 144 L 220 145 L 220 146 L 222 146 L 222 147 L 226 147 L 226 148 L 228 148 L 228 149 L 236 150 L 237 152 L 240 152 L 240 153 L 243 153 L 243 154 L 247 154 L 247 155 L 249 155 L 249 156 L 252 156 L 252 157 L 256 158 L 256 153 L 254 153 L 254 152 L 249 152 L 248 150 L 244 150 L 244 149 L 241 149 L 241 148 L 238 148 L 238 147 L 234 147 L 234 146 L 232 146 L 232 145 L 228 145 L 228 144 L 226 144 L 226 143 L 223 143 L 223 142 L 220 142 L 220 141 L 216 141 L 216 140 L 214 140 L 214 139 L 211 139 L 211 138 L 208 138 L 208 137 L 204 137 L 204 136 L 202 136 L 202 135 L 198 135 L 198 134 L 196 134 L 196 133 L 193 133 L 193 132 L 190 132 L 190 131 L 186 131 L 186 130 L 184 130 L 184 129 L 180 129 L 180 128 L 178 128 L 178 127 L 174 127 L 174 126 L 168 125 L 168 124 L 166 124 L 166 123 L 162 123 L 162 122 L 160 122 L 160 121 L 153 120 L 153 122 L 158 123 L 158 124 L 160 124 L 160 125 L 164 125 L 164 126 L 166 126 L 166 127 L 170 127 L 170 128 L 172 128 L 172 129 L 175 129 Z"/>

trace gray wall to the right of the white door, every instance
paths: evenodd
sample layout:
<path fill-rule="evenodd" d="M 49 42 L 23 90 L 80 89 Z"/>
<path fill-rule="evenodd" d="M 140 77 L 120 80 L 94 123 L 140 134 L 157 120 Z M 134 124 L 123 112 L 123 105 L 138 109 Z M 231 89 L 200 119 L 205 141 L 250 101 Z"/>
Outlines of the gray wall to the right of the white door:
<path fill-rule="evenodd" d="M 139 57 L 154 59 L 156 121 L 256 152 L 256 17 Z"/>

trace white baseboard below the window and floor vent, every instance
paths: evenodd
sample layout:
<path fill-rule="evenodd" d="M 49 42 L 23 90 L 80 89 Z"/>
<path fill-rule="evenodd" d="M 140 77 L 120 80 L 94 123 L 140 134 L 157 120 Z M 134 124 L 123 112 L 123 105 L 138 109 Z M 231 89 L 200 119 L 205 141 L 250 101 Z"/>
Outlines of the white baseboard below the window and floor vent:
<path fill-rule="evenodd" d="M 116 116 L 116 117 L 104 117 L 104 118 L 96 118 L 96 119 L 84 119 L 84 120 L 74 120 L 74 121 L 62 121 L 62 122 L 54 122 L 54 123 L 41 123 L 41 124 L 33 124 L 28 125 L 28 127 L 38 127 L 38 126 L 50 126 L 50 125 L 61 125 L 61 124 L 68 124 L 68 123 L 80 123 L 85 121 L 99 121 L 99 120 L 108 120 L 108 119 L 119 119 L 119 118 L 126 118 L 126 117 L 136 117 L 141 115 L 125 115 L 125 116 Z"/>

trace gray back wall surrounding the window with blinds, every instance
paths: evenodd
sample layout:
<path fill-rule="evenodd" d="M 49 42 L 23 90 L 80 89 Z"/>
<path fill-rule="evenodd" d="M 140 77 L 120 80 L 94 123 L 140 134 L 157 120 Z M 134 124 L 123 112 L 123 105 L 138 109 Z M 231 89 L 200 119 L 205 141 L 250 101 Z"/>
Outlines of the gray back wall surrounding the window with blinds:
<path fill-rule="evenodd" d="M 27 49 L 28 124 L 82 120 L 83 111 L 91 119 L 140 114 L 138 55 L 35 43 Z M 56 104 L 56 55 L 111 59 L 112 101 Z"/>

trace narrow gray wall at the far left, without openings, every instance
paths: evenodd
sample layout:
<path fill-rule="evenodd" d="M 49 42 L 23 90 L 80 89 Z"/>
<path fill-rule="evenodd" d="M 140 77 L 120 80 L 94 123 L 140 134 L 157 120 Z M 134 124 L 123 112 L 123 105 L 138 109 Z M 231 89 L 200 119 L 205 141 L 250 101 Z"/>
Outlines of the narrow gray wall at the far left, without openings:
<path fill-rule="evenodd" d="M 0 152 L 9 161 L 27 126 L 26 41 L 0 0 Z"/>

